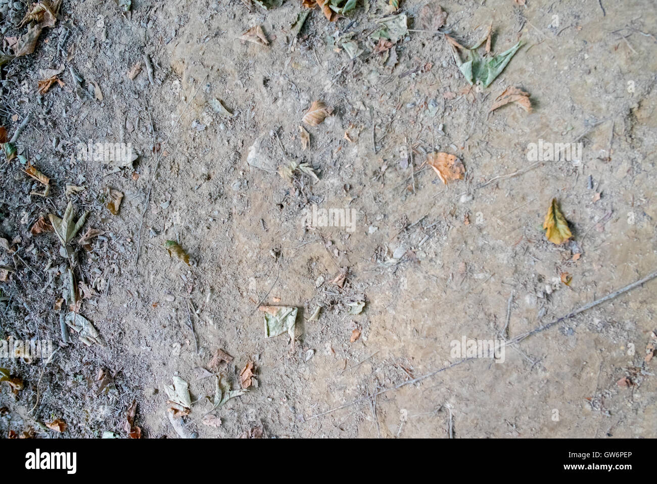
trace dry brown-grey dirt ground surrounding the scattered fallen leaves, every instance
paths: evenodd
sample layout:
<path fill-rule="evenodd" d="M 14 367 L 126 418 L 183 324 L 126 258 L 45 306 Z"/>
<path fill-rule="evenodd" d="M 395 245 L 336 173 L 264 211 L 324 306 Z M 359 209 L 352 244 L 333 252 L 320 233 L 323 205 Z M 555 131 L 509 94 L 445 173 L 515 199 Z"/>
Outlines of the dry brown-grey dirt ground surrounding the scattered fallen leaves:
<path fill-rule="evenodd" d="M 654 3 L 430 0 L 447 13 L 436 32 L 426 0 L 401 0 L 409 32 L 385 53 L 370 36 L 387 3 L 336 22 L 315 7 L 296 35 L 300 4 L 64 0 L 34 53 L 3 66 L 1 125 L 11 137 L 31 116 L 15 145 L 50 192 L 2 157 L 0 332 L 57 352 L 0 361 L 23 384 L 0 383 L 0 434 L 657 437 L 657 280 L 507 346 L 503 363 L 451 366 L 453 340 L 514 338 L 657 270 Z M 0 2 L 3 51 L 26 11 Z M 523 45 L 471 87 L 445 34 L 473 45 L 491 22 L 488 56 Z M 254 26 L 269 45 L 237 39 Z M 39 94 L 39 70 L 59 66 L 64 85 Z M 489 112 L 509 86 L 532 112 Z M 315 100 L 332 114 L 302 123 Z M 139 158 L 81 159 L 89 140 Z M 582 143 L 581 159 L 532 162 L 539 140 Z M 463 179 L 443 184 L 431 152 L 457 156 Z M 290 183 L 277 173 L 290 162 L 318 179 Z M 124 194 L 117 215 L 108 188 Z M 553 198 L 563 244 L 543 231 Z M 30 232 L 69 201 L 89 211 L 69 252 L 102 345 L 62 341 L 68 261 L 55 234 Z M 313 206 L 353 209 L 354 230 L 309 227 Z M 88 229 L 102 233 L 80 246 Z M 298 308 L 294 340 L 265 337 L 261 304 Z M 233 359 L 211 364 L 217 349 Z M 248 391 L 217 407 L 215 375 L 238 389 L 249 362 Z M 189 383 L 182 417 L 174 377 Z"/>

